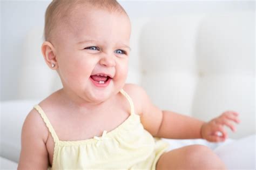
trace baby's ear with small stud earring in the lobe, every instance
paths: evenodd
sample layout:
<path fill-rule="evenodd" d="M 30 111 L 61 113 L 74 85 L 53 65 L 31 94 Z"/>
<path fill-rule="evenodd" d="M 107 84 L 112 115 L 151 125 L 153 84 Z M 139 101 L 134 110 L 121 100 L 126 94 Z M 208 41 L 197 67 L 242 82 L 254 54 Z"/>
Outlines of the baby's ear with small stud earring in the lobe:
<path fill-rule="evenodd" d="M 46 64 L 53 70 L 57 69 L 57 58 L 55 48 L 50 42 L 44 42 L 41 47 Z"/>

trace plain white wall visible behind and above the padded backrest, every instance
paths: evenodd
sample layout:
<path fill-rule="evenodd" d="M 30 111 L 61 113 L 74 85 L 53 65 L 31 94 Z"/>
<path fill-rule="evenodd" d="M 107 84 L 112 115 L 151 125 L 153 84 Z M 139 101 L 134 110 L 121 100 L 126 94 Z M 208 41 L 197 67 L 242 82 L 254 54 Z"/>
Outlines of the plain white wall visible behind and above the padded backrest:
<path fill-rule="evenodd" d="M 51 1 L 1 1 L 1 100 L 18 99 L 23 42 L 34 28 L 43 28 Z M 177 13 L 254 11 L 254 1 L 119 1 L 131 20 Z M 36 77 L 35 77 L 36 79 Z"/>

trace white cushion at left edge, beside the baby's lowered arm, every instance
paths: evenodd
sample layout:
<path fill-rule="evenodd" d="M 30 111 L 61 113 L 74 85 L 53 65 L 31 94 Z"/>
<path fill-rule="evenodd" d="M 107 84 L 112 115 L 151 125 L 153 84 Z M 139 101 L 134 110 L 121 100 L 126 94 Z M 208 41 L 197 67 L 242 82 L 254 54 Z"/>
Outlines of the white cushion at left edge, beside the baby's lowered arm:
<path fill-rule="evenodd" d="M 1 157 L 18 162 L 21 152 L 21 131 L 26 115 L 37 100 L 1 102 Z"/>

